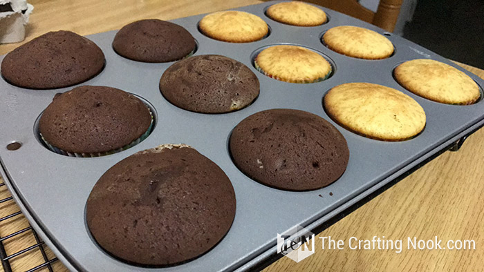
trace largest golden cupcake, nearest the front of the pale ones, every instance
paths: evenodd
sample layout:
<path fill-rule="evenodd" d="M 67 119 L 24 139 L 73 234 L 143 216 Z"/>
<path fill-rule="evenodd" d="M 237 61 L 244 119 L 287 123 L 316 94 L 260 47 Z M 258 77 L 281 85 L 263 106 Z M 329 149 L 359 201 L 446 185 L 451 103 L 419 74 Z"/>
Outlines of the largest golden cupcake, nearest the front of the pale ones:
<path fill-rule="evenodd" d="M 353 132 L 373 139 L 403 141 L 425 127 L 417 101 L 393 88 L 371 83 L 335 86 L 324 97 L 326 113 Z"/>

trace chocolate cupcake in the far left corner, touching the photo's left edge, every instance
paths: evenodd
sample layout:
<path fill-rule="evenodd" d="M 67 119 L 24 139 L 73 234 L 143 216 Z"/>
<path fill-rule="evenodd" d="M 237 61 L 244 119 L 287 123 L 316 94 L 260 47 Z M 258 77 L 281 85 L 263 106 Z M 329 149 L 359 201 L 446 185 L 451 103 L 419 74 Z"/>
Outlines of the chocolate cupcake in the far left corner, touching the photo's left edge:
<path fill-rule="evenodd" d="M 70 31 L 48 32 L 8 53 L 1 75 L 15 86 L 62 88 L 91 79 L 104 68 L 104 54 L 93 41 Z"/>

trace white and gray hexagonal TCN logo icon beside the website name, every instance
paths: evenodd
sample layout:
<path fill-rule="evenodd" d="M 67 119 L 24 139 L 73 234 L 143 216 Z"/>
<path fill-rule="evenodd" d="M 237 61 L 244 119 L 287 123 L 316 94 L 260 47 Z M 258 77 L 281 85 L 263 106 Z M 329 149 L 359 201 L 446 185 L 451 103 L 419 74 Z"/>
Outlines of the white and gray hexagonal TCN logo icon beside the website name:
<path fill-rule="evenodd" d="M 277 253 L 301 262 L 315 253 L 315 235 L 302 226 L 293 226 L 283 234 L 277 233 Z"/>

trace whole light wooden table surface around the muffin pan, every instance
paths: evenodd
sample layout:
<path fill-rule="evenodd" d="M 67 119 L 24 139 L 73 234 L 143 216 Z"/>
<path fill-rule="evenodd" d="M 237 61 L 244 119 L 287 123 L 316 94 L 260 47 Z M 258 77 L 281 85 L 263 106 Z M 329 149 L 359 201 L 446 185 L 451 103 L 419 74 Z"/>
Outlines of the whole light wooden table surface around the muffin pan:
<path fill-rule="evenodd" d="M 35 6 L 26 41 L 50 30 L 72 30 L 80 35 L 119 29 L 137 19 L 175 19 L 205 12 L 260 3 L 255 0 L 215 1 L 74 1 L 30 0 Z M 24 41 L 25 42 L 25 41 Z M 20 43 L 0 45 L 0 55 Z M 484 70 L 459 64 L 484 79 Z M 0 180 L 0 182 L 2 182 Z M 455 153 L 446 152 L 389 188 L 315 238 L 315 254 L 296 263 L 282 258 L 266 271 L 484 271 L 484 130 L 474 133 Z M 0 187 L 0 199 L 8 195 Z M 14 203 L 0 204 L 0 217 L 18 211 Z M 24 217 L 0 222 L 4 237 L 28 226 Z M 254 230 L 257 231 L 257 230 Z M 274 234 L 275 235 L 275 234 Z M 344 240 L 342 250 L 322 249 L 319 237 Z M 403 240 L 401 253 L 387 250 L 351 250 L 350 237 L 371 240 L 378 236 Z M 430 240 L 474 240 L 476 250 L 407 250 L 407 237 Z M 35 243 L 31 232 L 8 240 L 6 251 L 15 253 Z M 46 249 L 47 254 L 53 254 Z M 12 260 L 13 271 L 41 263 L 39 251 Z M 66 268 L 56 262 L 55 271 Z"/>

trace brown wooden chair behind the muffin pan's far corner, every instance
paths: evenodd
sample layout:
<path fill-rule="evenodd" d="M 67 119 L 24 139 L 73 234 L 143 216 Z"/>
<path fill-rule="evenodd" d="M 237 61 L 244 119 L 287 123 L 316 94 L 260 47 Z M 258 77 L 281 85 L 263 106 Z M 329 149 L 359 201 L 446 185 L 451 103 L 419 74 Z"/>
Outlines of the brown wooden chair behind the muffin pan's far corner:
<path fill-rule="evenodd" d="M 315 3 L 319 6 L 331 8 L 337 12 L 348 14 L 352 17 L 372 23 L 375 26 L 393 32 L 397 23 L 398 14 L 403 0 L 380 0 L 378 10 L 373 12 L 360 5 L 356 0 L 308 0 L 305 2 Z"/>

